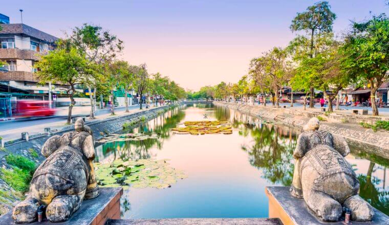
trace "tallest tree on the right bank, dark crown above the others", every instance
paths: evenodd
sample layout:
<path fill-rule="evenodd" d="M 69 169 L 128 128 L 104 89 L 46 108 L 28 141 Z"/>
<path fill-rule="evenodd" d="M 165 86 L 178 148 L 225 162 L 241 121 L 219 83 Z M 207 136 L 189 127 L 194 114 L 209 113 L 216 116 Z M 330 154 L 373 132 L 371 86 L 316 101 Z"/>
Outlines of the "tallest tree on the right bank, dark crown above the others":
<path fill-rule="evenodd" d="M 292 20 L 290 29 L 292 31 L 306 31 L 310 33 L 309 57 L 315 56 L 314 37 L 322 33 L 332 32 L 332 25 L 336 19 L 336 14 L 331 11 L 328 2 L 318 2 L 307 8 L 307 11 L 297 13 Z M 311 87 L 310 107 L 313 108 L 314 89 Z"/>

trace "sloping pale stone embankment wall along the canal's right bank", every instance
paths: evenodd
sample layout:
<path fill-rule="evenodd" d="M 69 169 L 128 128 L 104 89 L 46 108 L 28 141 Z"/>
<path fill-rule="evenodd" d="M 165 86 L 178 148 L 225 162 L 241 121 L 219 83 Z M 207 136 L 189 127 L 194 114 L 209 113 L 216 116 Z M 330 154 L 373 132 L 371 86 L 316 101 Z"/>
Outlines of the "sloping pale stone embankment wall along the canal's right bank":
<path fill-rule="evenodd" d="M 365 149 L 367 152 L 372 152 L 389 159 L 389 132 L 374 132 L 372 129 L 364 129 L 358 124 L 359 122 L 373 124 L 377 120 L 387 120 L 387 118 L 347 114 L 340 115 L 336 113 L 331 113 L 326 116 L 323 113 L 304 111 L 302 109 L 242 105 L 227 102 L 213 102 L 213 104 L 217 106 L 226 106 L 269 122 L 298 128 L 302 128 L 310 118 L 320 116 L 328 120 L 326 122 L 320 122 L 320 129 L 340 134 L 351 146 Z"/>

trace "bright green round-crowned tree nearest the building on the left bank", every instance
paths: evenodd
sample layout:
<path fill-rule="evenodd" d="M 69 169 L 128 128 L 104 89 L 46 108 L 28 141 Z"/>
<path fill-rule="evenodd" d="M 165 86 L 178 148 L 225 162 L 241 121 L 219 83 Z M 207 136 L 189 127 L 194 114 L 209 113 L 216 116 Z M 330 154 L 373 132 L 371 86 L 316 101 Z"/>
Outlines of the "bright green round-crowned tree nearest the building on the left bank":
<path fill-rule="evenodd" d="M 85 59 L 85 55 L 76 48 L 58 48 L 42 56 L 35 63 L 35 68 L 39 68 L 36 77 L 41 84 L 57 82 L 69 86 L 64 91 L 71 100 L 67 120 L 67 123 L 70 124 L 72 109 L 76 104 L 73 97 L 76 94 L 76 85 L 84 84 L 96 73 L 94 63 Z"/>

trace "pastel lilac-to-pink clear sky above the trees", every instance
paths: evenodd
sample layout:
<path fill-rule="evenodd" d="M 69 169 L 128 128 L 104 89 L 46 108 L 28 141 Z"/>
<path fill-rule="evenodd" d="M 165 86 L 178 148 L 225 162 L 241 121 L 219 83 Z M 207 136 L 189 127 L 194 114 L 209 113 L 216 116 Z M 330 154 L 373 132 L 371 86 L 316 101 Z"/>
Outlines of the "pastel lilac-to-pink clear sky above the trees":
<path fill-rule="evenodd" d="M 57 37 L 84 22 L 99 25 L 124 41 L 121 58 L 147 63 L 193 90 L 220 81 L 236 82 L 247 73 L 251 58 L 294 37 L 289 30 L 297 12 L 311 0 L 132 0 L 18 1 L 2 4 L 0 13 Z M 332 0 L 334 30 L 350 20 L 386 12 L 384 0 Z"/>

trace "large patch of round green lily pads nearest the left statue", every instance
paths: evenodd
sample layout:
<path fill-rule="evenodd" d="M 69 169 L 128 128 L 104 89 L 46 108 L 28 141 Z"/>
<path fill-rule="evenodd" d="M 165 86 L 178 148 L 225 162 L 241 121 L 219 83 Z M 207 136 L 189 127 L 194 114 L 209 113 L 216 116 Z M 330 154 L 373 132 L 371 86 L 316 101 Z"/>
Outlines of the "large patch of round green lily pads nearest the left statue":
<path fill-rule="evenodd" d="M 168 188 L 186 178 L 182 170 L 169 167 L 167 160 L 116 160 L 111 164 L 94 163 L 98 185 L 102 187 Z"/>

